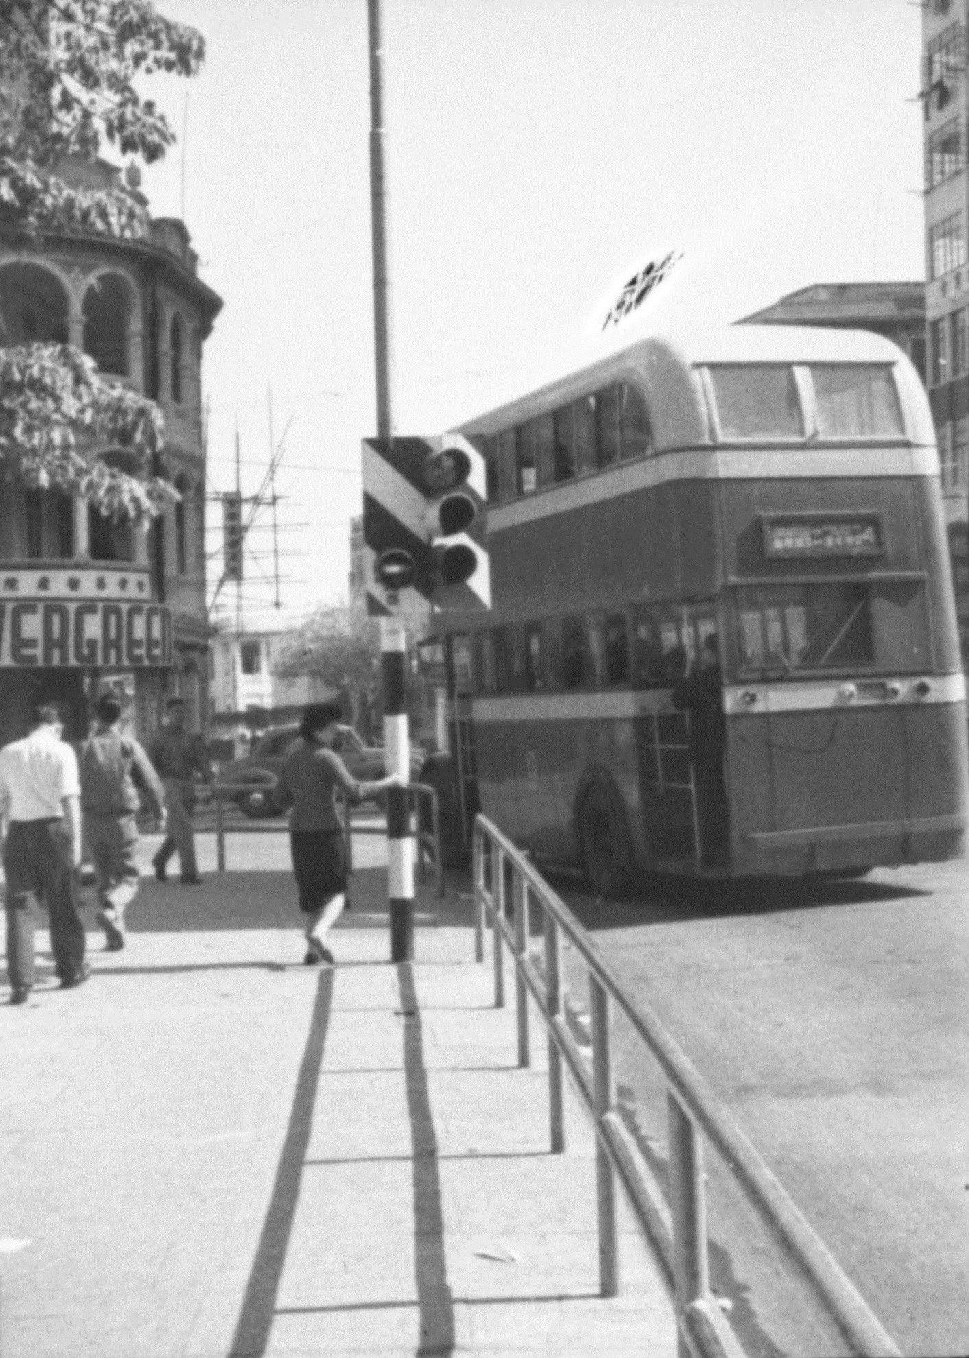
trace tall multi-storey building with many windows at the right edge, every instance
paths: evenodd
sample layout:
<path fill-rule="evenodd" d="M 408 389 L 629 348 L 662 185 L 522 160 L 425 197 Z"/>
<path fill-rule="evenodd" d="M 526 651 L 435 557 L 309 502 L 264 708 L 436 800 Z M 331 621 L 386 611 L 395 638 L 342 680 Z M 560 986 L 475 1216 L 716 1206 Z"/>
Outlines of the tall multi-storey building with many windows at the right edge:
<path fill-rule="evenodd" d="M 966 0 L 922 7 L 927 386 L 939 444 L 964 664 L 969 663 L 969 182 Z"/>

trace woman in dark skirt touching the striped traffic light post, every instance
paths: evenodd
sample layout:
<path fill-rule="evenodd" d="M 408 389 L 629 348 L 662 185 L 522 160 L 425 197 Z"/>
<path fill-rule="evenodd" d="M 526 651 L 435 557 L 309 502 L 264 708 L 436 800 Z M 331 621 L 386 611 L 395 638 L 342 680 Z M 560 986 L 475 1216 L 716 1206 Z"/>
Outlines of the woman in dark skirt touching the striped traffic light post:
<path fill-rule="evenodd" d="M 326 938 L 346 904 L 346 849 L 337 811 L 337 789 L 352 801 L 372 797 L 384 788 L 400 788 L 398 774 L 379 782 L 357 782 L 330 746 L 337 735 L 341 709 L 335 702 L 311 703 L 303 713 L 303 741 L 282 766 L 276 803 L 289 816 L 293 876 L 300 889 L 300 910 L 307 917 L 307 963 L 334 956 Z"/>

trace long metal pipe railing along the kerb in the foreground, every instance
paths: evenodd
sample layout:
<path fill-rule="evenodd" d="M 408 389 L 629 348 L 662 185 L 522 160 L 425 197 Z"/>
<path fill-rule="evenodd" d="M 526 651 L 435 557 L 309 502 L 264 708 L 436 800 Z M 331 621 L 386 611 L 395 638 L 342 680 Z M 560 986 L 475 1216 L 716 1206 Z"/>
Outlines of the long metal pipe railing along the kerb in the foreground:
<path fill-rule="evenodd" d="M 512 891 L 512 925 L 508 891 Z M 733 1114 L 717 1099 L 657 1016 L 634 1002 L 555 891 L 484 816 L 474 828 L 475 960 L 484 960 L 484 926 L 494 940 L 494 1002 L 505 1004 L 505 948 L 514 960 L 518 1065 L 531 1063 L 529 991 L 548 1033 L 548 1099 L 552 1152 L 565 1149 L 563 1062 L 596 1131 L 600 1291 L 619 1290 L 616 1180 L 653 1247 L 673 1297 L 681 1358 L 742 1358 L 742 1347 L 710 1290 L 703 1137 L 718 1153 L 786 1260 L 809 1285 L 851 1354 L 898 1358 L 898 1348 L 824 1241 L 753 1149 Z M 539 906 L 544 976 L 529 956 L 529 900 Z M 565 1013 L 562 937 L 589 975 L 592 1069 Z M 619 1010 L 658 1062 L 666 1082 L 669 1194 L 660 1184 L 616 1111 L 612 1016 Z"/>

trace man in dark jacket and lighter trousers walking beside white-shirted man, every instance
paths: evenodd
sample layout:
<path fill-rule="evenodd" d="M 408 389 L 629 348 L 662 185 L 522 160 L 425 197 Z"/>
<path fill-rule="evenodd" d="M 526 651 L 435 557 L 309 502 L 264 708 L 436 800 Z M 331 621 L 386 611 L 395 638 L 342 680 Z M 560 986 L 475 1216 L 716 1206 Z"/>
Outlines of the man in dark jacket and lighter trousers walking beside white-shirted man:
<path fill-rule="evenodd" d="M 138 889 L 138 786 L 164 828 L 164 788 L 133 736 L 118 731 L 121 703 L 103 694 L 94 705 L 95 732 L 81 750 L 84 837 L 98 881 L 95 919 L 109 952 L 125 947 L 125 907 Z M 137 785 L 137 786 L 136 786 Z"/>

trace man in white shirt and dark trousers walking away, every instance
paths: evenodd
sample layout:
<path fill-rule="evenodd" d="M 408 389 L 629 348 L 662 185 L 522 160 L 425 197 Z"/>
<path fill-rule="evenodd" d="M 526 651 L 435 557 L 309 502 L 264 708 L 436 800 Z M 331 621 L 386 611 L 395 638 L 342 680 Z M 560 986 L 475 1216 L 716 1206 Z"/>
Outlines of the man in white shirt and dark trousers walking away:
<path fill-rule="evenodd" d="M 65 990 L 91 975 L 84 961 L 84 925 L 77 914 L 75 870 L 80 865 L 77 758 L 61 740 L 54 703 L 37 709 L 37 725 L 0 750 L 0 822 L 5 830 L 7 970 L 12 1005 L 34 985 L 34 914 L 43 892 L 50 915 L 54 970 Z"/>

